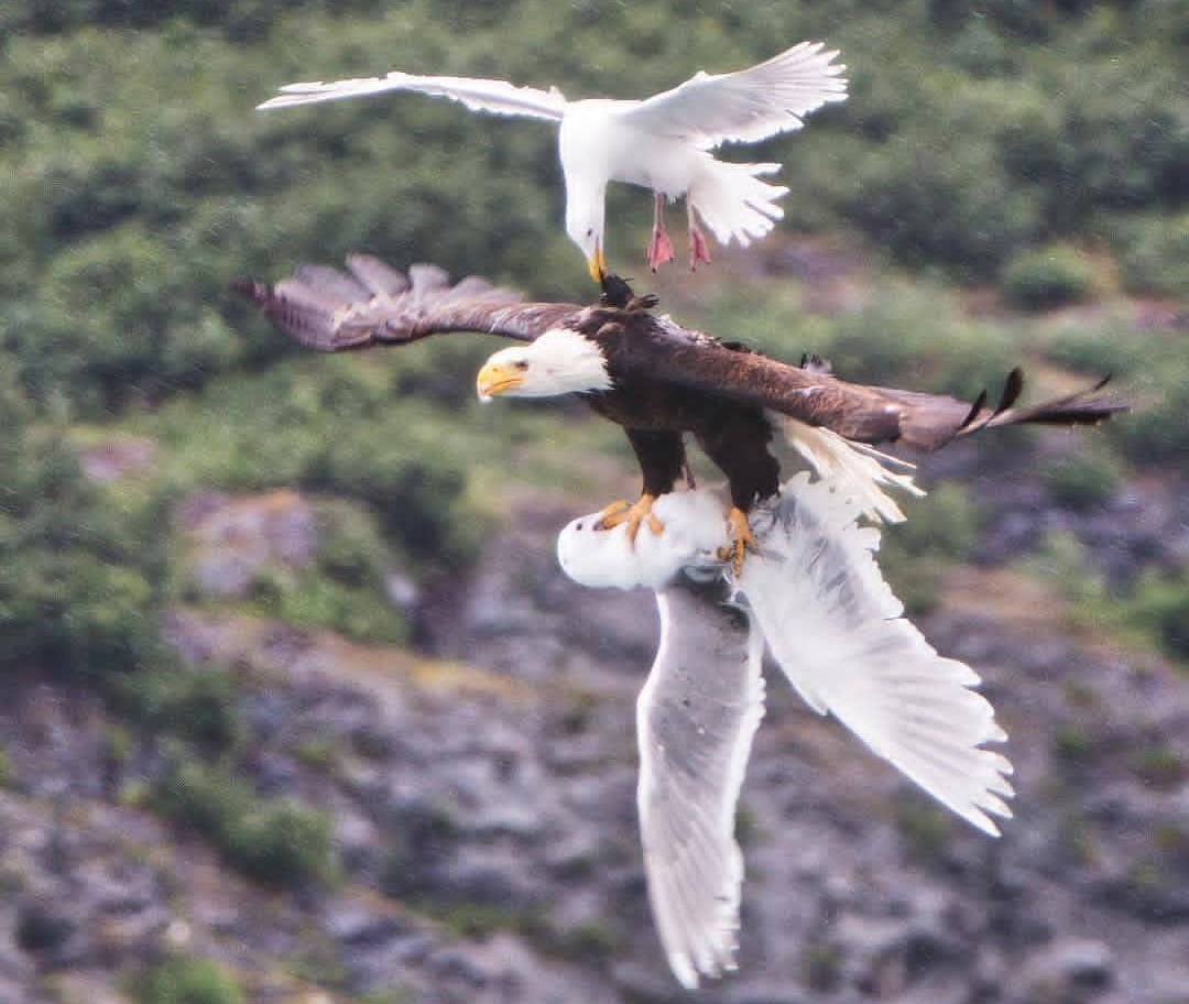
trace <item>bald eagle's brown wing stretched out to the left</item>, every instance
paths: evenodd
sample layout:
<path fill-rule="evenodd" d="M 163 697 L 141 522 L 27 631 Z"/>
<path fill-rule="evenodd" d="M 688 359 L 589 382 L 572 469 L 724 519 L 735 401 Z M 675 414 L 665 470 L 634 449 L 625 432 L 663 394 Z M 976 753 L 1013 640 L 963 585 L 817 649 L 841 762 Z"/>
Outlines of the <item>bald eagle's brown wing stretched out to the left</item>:
<path fill-rule="evenodd" d="M 240 280 L 234 288 L 285 334 L 322 352 L 451 331 L 531 341 L 579 310 L 572 303 L 522 303 L 520 293 L 477 276 L 451 285 L 436 265 L 411 265 L 404 275 L 369 255 L 348 255 L 347 269 L 298 265 L 275 285 Z"/>

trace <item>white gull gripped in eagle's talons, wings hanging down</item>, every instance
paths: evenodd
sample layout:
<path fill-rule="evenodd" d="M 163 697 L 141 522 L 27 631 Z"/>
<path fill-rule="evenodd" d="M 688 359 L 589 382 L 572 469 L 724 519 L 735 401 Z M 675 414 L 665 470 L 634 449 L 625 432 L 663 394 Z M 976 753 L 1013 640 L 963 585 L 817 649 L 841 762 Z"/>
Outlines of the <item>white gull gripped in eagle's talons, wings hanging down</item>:
<path fill-rule="evenodd" d="M 1011 816 L 1012 765 L 986 748 L 1006 733 L 973 689 L 979 676 L 904 617 L 854 487 L 845 472 L 786 482 L 757 515 L 760 551 L 734 582 L 718 558 L 724 503 L 707 489 L 658 500 L 663 531 L 635 546 L 623 525 L 600 529 L 597 513 L 558 538 L 574 581 L 656 592 L 660 645 L 636 702 L 637 810 L 661 945 L 690 989 L 735 968 L 735 809 L 763 717 L 765 647 L 814 711 L 963 820 L 998 836 L 990 817 Z"/>

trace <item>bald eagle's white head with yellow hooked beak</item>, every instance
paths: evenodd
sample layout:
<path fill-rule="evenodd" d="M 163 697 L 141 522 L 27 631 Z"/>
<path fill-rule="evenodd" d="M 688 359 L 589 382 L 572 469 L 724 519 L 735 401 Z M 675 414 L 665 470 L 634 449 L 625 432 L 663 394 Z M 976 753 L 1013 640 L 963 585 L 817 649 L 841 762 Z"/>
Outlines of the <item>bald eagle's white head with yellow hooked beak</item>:
<path fill-rule="evenodd" d="M 611 377 L 598 343 L 568 328 L 551 328 L 530 345 L 496 352 L 474 381 L 480 401 L 508 397 L 553 397 L 586 390 L 609 390 Z"/>

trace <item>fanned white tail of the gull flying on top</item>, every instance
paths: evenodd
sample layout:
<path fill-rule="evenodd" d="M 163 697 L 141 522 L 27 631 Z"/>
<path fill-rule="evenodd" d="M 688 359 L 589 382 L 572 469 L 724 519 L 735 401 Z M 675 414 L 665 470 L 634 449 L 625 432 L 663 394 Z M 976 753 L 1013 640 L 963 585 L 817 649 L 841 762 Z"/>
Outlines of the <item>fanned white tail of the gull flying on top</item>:
<path fill-rule="evenodd" d="M 778 170 L 780 164 L 731 164 L 707 153 L 686 199 L 719 244 L 737 240 L 747 247 L 785 215 L 776 200 L 788 189 L 760 180 Z"/>

